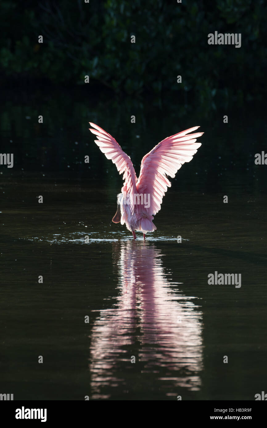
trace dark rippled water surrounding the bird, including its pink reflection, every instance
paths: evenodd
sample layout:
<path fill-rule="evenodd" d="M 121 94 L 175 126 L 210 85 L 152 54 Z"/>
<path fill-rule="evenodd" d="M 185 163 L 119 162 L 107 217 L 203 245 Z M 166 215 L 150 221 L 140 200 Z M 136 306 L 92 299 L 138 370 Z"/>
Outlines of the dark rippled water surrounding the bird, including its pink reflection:
<path fill-rule="evenodd" d="M 266 390 L 266 166 L 254 163 L 266 147 L 264 114 L 167 107 L 4 97 L 1 152 L 13 152 L 15 164 L 0 166 L 1 393 L 254 400 Z M 94 145 L 89 120 L 114 135 L 138 173 L 162 138 L 194 125 L 205 131 L 145 242 L 111 223 L 122 180 Z M 215 271 L 240 273 L 241 287 L 208 285 Z"/>

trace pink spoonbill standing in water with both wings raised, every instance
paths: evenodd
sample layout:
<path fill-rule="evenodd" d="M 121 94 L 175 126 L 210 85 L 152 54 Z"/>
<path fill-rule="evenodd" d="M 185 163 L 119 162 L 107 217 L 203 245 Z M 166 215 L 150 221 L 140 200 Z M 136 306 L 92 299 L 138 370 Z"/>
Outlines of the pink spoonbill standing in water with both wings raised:
<path fill-rule="evenodd" d="M 152 222 L 153 216 L 160 210 L 167 187 L 171 187 L 167 175 L 174 178 L 183 163 L 193 158 L 201 146 L 201 143 L 196 143 L 196 139 L 204 133 L 188 135 L 199 128 L 195 126 L 162 140 L 142 159 L 137 179 L 130 157 L 123 152 L 117 141 L 99 126 L 89 123 L 95 128 L 90 128 L 90 131 L 98 138 L 95 143 L 101 152 L 115 163 L 120 174 L 123 173 L 122 193 L 117 195 L 117 212 L 112 221 L 125 223 L 134 239 L 135 231 L 143 232 L 145 239 L 147 232 L 156 230 Z"/>

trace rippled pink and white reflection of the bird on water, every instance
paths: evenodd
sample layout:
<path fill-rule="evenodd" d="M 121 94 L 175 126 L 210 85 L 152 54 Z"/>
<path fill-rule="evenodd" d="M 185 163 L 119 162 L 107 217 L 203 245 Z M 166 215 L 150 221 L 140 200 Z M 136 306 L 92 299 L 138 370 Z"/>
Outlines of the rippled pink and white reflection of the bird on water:
<path fill-rule="evenodd" d="M 135 375 L 141 374 L 141 382 L 145 373 L 153 374 L 153 379 L 156 376 L 165 395 L 177 395 L 175 387 L 179 386 L 198 390 L 202 312 L 192 301 L 195 297 L 177 290 L 155 244 L 126 241 L 112 245 L 119 296 L 110 309 L 100 311 L 92 328 L 92 398 L 108 398 L 110 388 L 119 385 L 128 392 L 134 385 L 126 385 L 123 373 L 130 370 L 136 372 L 132 372 L 132 383 Z"/>

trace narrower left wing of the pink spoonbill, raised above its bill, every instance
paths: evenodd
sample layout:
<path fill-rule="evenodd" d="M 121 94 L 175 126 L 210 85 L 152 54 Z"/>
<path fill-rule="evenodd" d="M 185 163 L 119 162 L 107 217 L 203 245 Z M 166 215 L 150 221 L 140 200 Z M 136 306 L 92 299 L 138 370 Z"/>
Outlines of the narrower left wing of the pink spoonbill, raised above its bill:
<path fill-rule="evenodd" d="M 119 146 L 117 141 L 111 137 L 106 131 L 104 131 L 99 126 L 94 123 L 89 122 L 90 125 L 95 129 L 90 129 L 90 131 L 96 135 L 98 140 L 95 140 L 95 143 L 99 146 L 99 149 L 102 153 L 105 154 L 105 157 L 111 159 L 113 163 L 117 166 L 117 170 L 120 174 L 123 174 L 124 188 L 126 191 L 127 198 L 130 201 L 130 207 L 132 214 L 134 212 L 134 194 L 136 193 L 136 182 L 137 177 L 135 174 L 135 169 L 132 164 L 132 160 L 129 158 L 126 153 L 123 152 L 123 149 Z"/>

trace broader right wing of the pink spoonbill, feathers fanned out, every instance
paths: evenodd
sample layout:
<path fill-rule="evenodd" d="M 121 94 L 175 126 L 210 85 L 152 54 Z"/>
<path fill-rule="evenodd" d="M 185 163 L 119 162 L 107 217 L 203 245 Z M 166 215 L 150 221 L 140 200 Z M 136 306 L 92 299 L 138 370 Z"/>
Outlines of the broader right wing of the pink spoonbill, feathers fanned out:
<path fill-rule="evenodd" d="M 196 143 L 196 139 L 203 132 L 187 135 L 198 128 L 195 126 L 165 138 L 142 159 L 136 187 L 137 193 L 150 193 L 147 214 L 155 215 L 160 210 L 167 187 L 171 187 L 167 175 L 174 178 L 177 170 L 183 163 L 189 162 L 201 146 L 201 143 Z"/>

